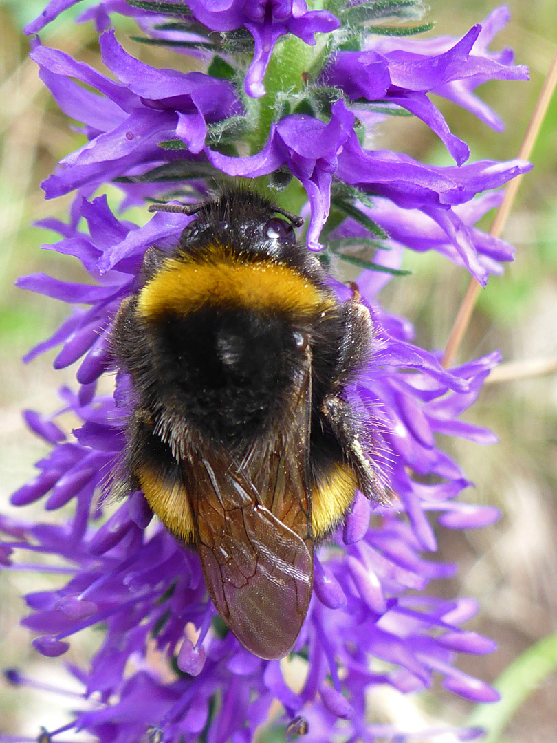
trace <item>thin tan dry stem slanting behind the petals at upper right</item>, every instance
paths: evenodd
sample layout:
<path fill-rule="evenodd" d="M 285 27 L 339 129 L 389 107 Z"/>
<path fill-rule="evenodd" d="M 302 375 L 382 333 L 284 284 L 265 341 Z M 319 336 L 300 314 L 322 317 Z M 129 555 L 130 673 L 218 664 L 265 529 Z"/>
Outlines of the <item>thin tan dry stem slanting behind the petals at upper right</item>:
<path fill-rule="evenodd" d="M 530 159 L 532 148 L 535 144 L 536 138 L 538 137 L 541 124 L 544 121 L 544 116 L 547 111 L 547 106 L 550 105 L 550 100 L 553 96 L 556 85 L 557 51 L 555 53 L 555 56 L 553 56 L 553 60 L 547 73 L 547 77 L 544 80 L 544 84 L 541 86 L 538 100 L 534 106 L 534 110 L 532 111 L 530 123 L 528 124 L 526 134 L 524 134 L 524 139 L 522 140 L 520 149 L 518 150 L 519 160 Z M 518 175 L 516 178 L 513 178 L 513 180 L 510 181 L 509 184 L 506 186 L 503 201 L 501 201 L 501 206 L 499 207 L 497 214 L 495 215 L 495 219 L 493 220 L 491 229 L 489 230 L 489 234 L 492 237 L 497 238 L 501 235 L 501 232 L 503 231 L 506 224 L 506 218 L 509 216 L 509 212 L 515 200 L 518 186 L 521 184 L 521 180 L 522 175 Z M 472 311 L 474 311 L 480 289 L 481 285 L 479 284 L 479 282 L 477 282 L 476 279 L 472 279 L 468 285 L 468 288 L 466 289 L 462 304 L 460 305 L 457 317 L 455 319 L 455 324 L 452 326 L 452 331 L 449 335 L 449 340 L 447 341 L 445 352 L 443 353 L 443 360 L 441 361 L 443 369 L 447 369 L 447 367 L 452 366 L 452 362 L 455 358 L 455 355 L 457 354 L 458 348 L 460 347 L 460 343 L 464 337 L 464 334 L 466 333 L 466 328 L 468 328 L 470 317 L 472 317 Z"/>

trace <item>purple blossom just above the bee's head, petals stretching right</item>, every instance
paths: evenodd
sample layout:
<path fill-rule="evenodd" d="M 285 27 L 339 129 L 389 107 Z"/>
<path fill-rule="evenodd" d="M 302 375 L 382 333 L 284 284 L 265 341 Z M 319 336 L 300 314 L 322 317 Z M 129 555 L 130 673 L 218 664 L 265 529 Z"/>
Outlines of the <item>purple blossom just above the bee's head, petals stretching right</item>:
<path fill-rule="evenodd" d="M 365 192 L 384 196 L 398 207 L 427 215 L 445 233 L 452 252 L 483 284 L 492 265 L 486 268 L 486 263 L 482 265 L 478 260 L 478 244 L 452 207 L 469 203 L 478 192 L 500 186 L 530 167 L 520 160 L 508 163 L 483 160 L 461 168 L 440 168 L 423 166 L 407 155 L 362 149 L 354 132 L 354 114 L 342 100 L 333 103 L 328 124 L 303 114 L 285 117 L 273 128 L 269 142 L 257 155 L 231 158 L 209 152 L 208 157 L 228 175 L 250 178 L 286 165 L 302 183 L 310 200 L 307 246 L 312 250 L 322 247 L 318 239 L 328 218 L 334 175 Z M 481 241 L 485 243 L 489 239 L 484 236 Z M 499 255 L 504 254 L 508 260 L 511 253 L 501 241 L 499 244 L 502 248 Z M 409 247 L 413 246 L 409 244 Z M 433 242 L 430 247 L 434 247 Z"/>

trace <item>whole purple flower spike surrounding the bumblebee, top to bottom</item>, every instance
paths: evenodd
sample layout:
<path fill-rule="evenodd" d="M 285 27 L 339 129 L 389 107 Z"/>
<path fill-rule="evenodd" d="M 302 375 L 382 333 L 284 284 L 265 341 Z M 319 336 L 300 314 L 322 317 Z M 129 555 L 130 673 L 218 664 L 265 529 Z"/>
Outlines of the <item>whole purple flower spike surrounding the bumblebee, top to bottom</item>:
<path fill-rule="evenodd" d="M 28 31 L 40 30 L 73 4 L 53 0 Z M 105 628 L 88 667 L 70 669 L 82 684 L 81 708 L 71 724 L 51 735 L 75 728 L 100 743 L 248 743 L 262 724 L 283 724 L 293 733 L 308 725 L 311 743 L 339 735 L 411 741 L 414 735 L 395 722 L 368 721 L 370 688 L 385 684 L 404 694 L 427 689 L 438 677 L 447 690 L 472 701 L 497 698 L 487 684 L 454 666 L 457 653 L 481 655 L 494 648 L 463 627 L 475 604 L 422 591 L 456 570 L 428 557 L 437 548 L 436 528 L 478 528 L 497 518 L 493 508 L 457 500 L 471 483 L 440 448 L 437 434 L 495 441 L 460 415 L 499 356 L 443 369 L 439 353 L 413 343 L 411 323 L 382 307 L 380 291 L 392 280 L 389 272 L 400 267 L 405 247 L 437 250 L 484 283 L 512 259 L 509 245 L 474 225 L 498 204 L 501 194 L 492 189 L 525 172 L 527 163 L 464 164 L 466 145 L 429 100 L 430 93 L 440 94 L 496 123 L 472 91 L 488 79 L 525 78 L 509 53 L 486 51 L 504 12 L 496 11 L 460 41 L 372 37 L 362 50 L 348 51 L 342 46 L 345 30 L 335 32 L 336 16 L 307 10 L 302 1 L 191 0 L 175 8 L 158 5 L 157 13 L 149 1 L 138 5 L 105 0 L 83 16 L 104 30 L 102 60 L 114 79 L 38 39 L 31 55 L 59 106 L 82 123 L 88 140 L 45 181 L 49 198 L 74 189 L 76 195 L 68 223 L 42 221 L 60 236 L 44 247 L 77 257 L 89 280 L 62 282 L 44 274 L 19 280 L 21 288 L 76 305 L 26 360 L 56 348 L 57 369 L 79 366 L 76 391 L 59 391 L 53 415 L 25 413 L 51 452 L 12 503 L 42 502 L 45 510 L 73 504 L 74 510 L 55 524 L 0 516 L 0 562 L 18 569 L 14 554 L 35 552 L 66 576 L 59 588 L 25 598 L 30 613 L 23 621 L 42 655 L 63 655 L 72 636 L 86 627 Z M 335 12 L 342 19 L 347 9 L 340 5 Z M 206 63 L 206 73 L 154 69 L 129 56 L 114 31 L 105 30 L 114 12 L 134 16 L 157 41 L 183 43 L 181 51 Z M 157 27 L 161 22 L 164 27 Z M 244 51 L 234 47 L 245 42 L 242 28 L 255 41 L 243 81 Z M 213 44 L 212 31 L 223 34 L 220 42 Z M 280 89 L 280 80 L 267 80 L 270 93 L 264 95 L 270 56 L 285 48 L 277 39 L 297 36 L 312 45 L 313 34 L 324 31 L 331 32 L 327 42 L 308 56 L 313 74 L 293 79 L 287 90 Z M 426 166 L 404 153 L 373 149 L 371 126 L 385 119 L 389 107 L 421 117 L 457 165 Z M 146 224 L 134 224 L 94 192 L 115 181 L 125 209 L 146 199 L 175 198 L 180 189 L 183 198 L 203 197 L 212 178 L 227 175 L 268 177 L 273 186 L 285 187 L 309 216 L 304 239 L 312 250 L 326 242 L 322 236 L 341 243 L 374 239 L 374 264 L 383 270 L 365 270 L 358 279 L 376 334 L 373 358 L 349 395 L 374 428 L 377 464 L 397 501 L 372 510 L 357 494 L 342 528 L 317 552 L 310 609 L 293 654 L 280 663 L 251 655 L 222 626 L 198 555 L 152 521 L 143 493 L 111 508 L 99 499 L 126 443 L 131 395 L 122 372 L 114 379 L 114 394 L 97 392 L 97 381 L 114 366 L 114 315 L 137 287 L 146 250 L 154 244 L 172 249 L 190 218 L 157 212 Z M 330 282 L 339 299 L 351 294 Z M 59 421 L 68 412 L 78 421 L 72 435 Z M 292 684 L 293 672 L 303 683 Z M 7 678 L 33 683 L 13 670 Z M 277 700 L 284 713 L 270 718 Z M 433 739 L 446 730 L 435 727 L 423 735 Z M 479 734 L 455 731 L 460 740 Z"/>

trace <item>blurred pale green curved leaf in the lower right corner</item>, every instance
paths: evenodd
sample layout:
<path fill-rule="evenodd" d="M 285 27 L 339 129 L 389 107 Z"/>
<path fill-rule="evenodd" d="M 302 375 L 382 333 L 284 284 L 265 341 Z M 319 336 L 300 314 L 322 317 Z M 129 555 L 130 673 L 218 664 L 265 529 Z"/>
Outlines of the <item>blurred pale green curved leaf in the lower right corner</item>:
<path fill-rule="evenodd" d="M 516 710 L 556 671 L 557 632 L 539 640 L 506 666 L 494 684 L 501 700 L 495 704 L 478 704 L 466 720 L 466 726 L 484 727 L 487 735 L 483 743 L 498 743 Z"/>

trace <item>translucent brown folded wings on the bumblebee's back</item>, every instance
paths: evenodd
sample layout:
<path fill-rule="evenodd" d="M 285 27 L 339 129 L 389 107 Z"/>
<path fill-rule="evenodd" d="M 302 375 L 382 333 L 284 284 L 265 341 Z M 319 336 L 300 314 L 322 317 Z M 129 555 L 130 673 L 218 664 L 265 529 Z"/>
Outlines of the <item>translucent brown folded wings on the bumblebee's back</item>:
<path fill-rule="evenodd" d="M 306 358 L 289 418 L 241 463 L 224 451 L 183 461 L 209 595 L 260 658 L 282 658 L 292 649 L 313 588 L 309 353 Z"/>

